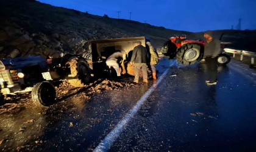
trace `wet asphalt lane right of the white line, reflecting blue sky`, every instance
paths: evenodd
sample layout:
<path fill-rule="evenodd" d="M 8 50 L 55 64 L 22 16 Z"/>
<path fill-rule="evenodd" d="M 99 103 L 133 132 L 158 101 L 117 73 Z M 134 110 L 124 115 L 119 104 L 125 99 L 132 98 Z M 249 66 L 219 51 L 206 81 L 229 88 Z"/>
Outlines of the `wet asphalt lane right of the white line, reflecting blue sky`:
<path fill-rule="evenodd" d="M 254 82 L 224 66 L 218 85 L 207 86 L 203 68 L 172 67 L 148 98 L 157 110 L 138 114 L 110 151 L 255 151 Z"/>

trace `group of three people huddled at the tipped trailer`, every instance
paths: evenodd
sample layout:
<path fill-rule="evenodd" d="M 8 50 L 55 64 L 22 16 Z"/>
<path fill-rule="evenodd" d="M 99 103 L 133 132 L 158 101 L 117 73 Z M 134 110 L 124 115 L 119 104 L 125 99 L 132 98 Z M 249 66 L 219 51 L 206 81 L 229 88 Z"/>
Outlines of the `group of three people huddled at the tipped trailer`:
<path fill-rule="evenodd" d="M 158 64 L 158 60 L 160 58 L 158 57 L 158 54 L 155 48 L 151 45 L 151 43 L 146 42 L 146 44 L 149 47 L 149 52 L 146 49 L 146 47 L 141 45 L 141 41 L 136 41 L 134 44 L 135 47 L 133 48 L 130 64 L 134 66 L 135 78 L 133 82 L 135 83 L 138 83 L 140 71 L 143 72 L 143 82 L 148 83 L 148 72 L 147 72 L 148 63 L 151 66 L 152 78 L 154 80 L 157 79 L 155 64 Z M 123 59 L 122 62 L 123 62 L 126 58 L 126 52 L 124 51 L 115 52 L 114 54 L 110 55 L 110 57 L 108 57 L 106 60 L 107 66 L 110 68 L 113 67 L 118 77 L 121 76 L 119 71 L 119 63 L 118 63 L 119 58 L 122 58 Z"/>

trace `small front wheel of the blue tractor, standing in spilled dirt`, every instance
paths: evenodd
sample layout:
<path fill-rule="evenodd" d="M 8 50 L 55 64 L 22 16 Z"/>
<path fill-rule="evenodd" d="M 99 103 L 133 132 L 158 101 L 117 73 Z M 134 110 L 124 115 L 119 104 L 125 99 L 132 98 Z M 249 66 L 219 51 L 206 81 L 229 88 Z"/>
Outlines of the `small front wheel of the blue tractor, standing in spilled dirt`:
<path fill-rule="evenodd" d="M 49 106 L 55 102 L 54 86 L 48 81 L 37 83 L 31 92 L 32 100 L 37 106 Z"/>

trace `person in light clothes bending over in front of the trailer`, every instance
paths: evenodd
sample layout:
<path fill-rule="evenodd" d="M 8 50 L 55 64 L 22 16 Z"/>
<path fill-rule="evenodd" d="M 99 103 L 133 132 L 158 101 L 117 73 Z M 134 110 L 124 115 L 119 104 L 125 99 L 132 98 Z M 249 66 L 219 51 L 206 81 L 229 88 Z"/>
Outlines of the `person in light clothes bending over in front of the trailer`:
<path fill-rule="evenodd" d="M 110 55 L 107 60 L 106 64 L 109 68 L 113 67 L 116 71 L 116 74 L 118 77 L 121 76 L 120 70 L 119 70 L 119 61 L 125 60 L 124 57 L 126 55 L 126 52 L 121 51 L 121 52 L 115 52 L 112 55 Z"/>

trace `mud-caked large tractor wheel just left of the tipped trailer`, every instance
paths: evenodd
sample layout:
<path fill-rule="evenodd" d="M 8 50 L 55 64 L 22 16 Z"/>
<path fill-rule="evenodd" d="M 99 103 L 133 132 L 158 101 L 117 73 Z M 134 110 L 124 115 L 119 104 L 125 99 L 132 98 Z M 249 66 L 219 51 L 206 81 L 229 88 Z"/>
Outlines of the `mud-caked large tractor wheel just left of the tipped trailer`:
<path fill-rule="evenodd" d="M 83 87 L 85 83 L 88 83 L 91 78 L 91 71 L 87 61 L 84 58 L 73 58 L 66 64 L 69 64 L 71 74 L 69 77 L 76 77 L 69 79 L 70 85 L 75 87 Z"/>

